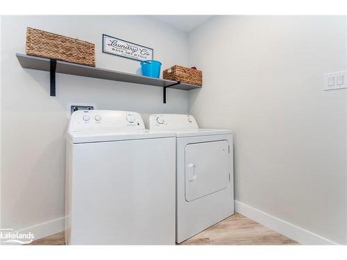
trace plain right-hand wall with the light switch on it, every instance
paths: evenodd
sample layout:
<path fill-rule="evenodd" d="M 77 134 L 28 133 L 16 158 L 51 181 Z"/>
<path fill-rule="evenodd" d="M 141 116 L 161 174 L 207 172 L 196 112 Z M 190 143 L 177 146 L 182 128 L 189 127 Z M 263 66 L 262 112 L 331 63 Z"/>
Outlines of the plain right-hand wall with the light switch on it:
<path fill-rule="evenodd" d="M 345 17 L 213 17 L 189 34 L 203 89 L 189 112 L 235 131 L 235 199 L 336 243 L 346 239 Z"/>

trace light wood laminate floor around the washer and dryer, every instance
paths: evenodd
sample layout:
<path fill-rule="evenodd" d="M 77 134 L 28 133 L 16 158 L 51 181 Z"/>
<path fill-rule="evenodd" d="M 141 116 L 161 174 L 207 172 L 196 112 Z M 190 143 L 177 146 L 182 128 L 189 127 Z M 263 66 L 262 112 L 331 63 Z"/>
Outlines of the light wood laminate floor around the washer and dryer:
<path fill-rule="evenodd" d="M 38 239 L 30 245 L 65 245 L 64 232 Z M 298 243 L 235 213 L 180 245 L 298 245 Z"/>

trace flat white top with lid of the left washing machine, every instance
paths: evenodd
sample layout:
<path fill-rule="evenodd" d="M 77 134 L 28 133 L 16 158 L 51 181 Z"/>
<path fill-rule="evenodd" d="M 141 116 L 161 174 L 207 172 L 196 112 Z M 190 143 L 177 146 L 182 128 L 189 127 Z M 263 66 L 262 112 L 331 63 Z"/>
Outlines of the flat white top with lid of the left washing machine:
<path fill-rule="evenodd" d="M 175 137 L 174 132 L 151 132 L 150 130 L 138 130 L 127 132 L 115 131 L 86 131 L 67 132 L 67 138 L 74 144 L 95 143 L 101 141 L 122 141 L 136 139 L 153 139 L 163 137 Z"/>

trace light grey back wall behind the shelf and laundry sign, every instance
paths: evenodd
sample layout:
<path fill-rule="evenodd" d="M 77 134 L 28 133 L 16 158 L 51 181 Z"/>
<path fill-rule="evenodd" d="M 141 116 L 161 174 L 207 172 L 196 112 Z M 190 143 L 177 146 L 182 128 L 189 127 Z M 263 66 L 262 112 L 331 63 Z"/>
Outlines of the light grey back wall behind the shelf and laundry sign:
<path fill-rule="evenodd" d="M 153 47 L 162 69 L 187 65 L 187 35 L 148 17 L 2 17 L 1 21 L 1 227 L 22 229 L 65 215 L 67 104 L 98 109 L 187 113 L 187 92 L 58 74 L 56 97 L 49 73 L 22 69 L 26 27 L 78 37 L 96 44 L 96 66 L 128 73 L 139 62 L 101 52 L 102 34 Z M 93 189 L 93 187 L 90 187 Z M 37 230 L 37 229 L 35 229 Z"/>

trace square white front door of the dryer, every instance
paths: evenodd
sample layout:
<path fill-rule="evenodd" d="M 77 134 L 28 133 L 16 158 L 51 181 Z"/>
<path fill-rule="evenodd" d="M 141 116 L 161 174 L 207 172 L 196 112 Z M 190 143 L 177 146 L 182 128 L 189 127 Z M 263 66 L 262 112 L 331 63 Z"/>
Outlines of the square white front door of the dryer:
<path fill-rule="evenodd" d="M 228 187 L 228 141 L 209 141 L 185 147 L 185 200 L 192 201 Z"/>

